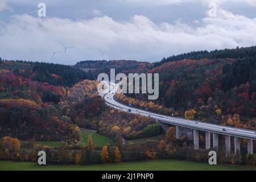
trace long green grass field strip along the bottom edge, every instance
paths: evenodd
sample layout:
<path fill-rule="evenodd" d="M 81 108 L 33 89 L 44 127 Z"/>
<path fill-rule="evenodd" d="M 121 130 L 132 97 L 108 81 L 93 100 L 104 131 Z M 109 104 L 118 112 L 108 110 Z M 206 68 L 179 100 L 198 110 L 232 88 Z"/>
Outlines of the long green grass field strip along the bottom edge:
<path fill-rule="evenodd" d="M 0 161 L 0 170 L 67 170 L 67 171 L 252 171 L 255 166 L 216 165 L 194 163 L 180 160 L 147 160 L 121 164 L 95 164 L 90 166 L 38 166 L 31 162 Z"/>

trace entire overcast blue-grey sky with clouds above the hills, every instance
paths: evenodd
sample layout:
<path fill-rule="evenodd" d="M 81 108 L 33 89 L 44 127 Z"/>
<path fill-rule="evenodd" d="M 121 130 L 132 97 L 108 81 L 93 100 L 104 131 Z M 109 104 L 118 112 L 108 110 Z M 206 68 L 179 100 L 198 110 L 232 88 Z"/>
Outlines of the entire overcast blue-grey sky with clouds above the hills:
<path fill-rule="evenodd" d="M 46 4 L 46 18 L 38 4 Z M 216 3 L 217 16 L 209 16 Z M 210 11 L 213 12 L 213 11 Z M 256 46 L 256 0 L 0 0 L 0 57 L 75 64 L 158 61 Z M 62 42 L 67 49 L 67 56 Z"/>

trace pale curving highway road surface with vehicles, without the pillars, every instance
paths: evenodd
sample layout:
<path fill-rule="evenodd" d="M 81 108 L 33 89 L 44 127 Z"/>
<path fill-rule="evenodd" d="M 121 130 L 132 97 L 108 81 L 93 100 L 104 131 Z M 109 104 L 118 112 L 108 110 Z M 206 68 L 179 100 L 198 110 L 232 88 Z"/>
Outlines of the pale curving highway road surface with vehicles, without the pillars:
<path fill-rule="evenodd" d="M 114 109 L 129 111 L 133 114 L 140 114 L 147 117 L 155 118 L 157 121 L 166 123 L 169 125 L 187 127 L 190 129 L 196 129 L 201 131 L 208 131 L 211 133 L 221 134 L 221 135 L 230 135 L 233 137 L 238 138 L 246 138 L 246 139 L 256 139 L 256 131 L 253 130 L 245 130 L 245 129 L 238 129 L 236 127 L 229 127 L 229 126 L 221 126 L 221 125 L 214 125 L 212 123 L 204 123 L 199 121 L 193 121 L 178 117 L 170 117 L 162 114 L 151 113 L 150 111 L 137 109 L 134 107 L 130 107 L 124 104 L 121 104 L 114 100 L 114 94 L 118 88 L 118 85 L 113 82 L 104 82 L 105 85 L 108 85 L 109 92 L 102 93 L 101 96 L 104 98 L 107 105 L 113 107 Z"/>

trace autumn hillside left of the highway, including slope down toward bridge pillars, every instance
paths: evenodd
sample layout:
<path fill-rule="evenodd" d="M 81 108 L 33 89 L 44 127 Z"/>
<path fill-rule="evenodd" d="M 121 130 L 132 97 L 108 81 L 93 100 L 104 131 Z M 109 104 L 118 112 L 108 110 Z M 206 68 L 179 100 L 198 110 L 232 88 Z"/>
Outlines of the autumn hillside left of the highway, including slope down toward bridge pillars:
<path fill-rule="evenodd" d="M 98 82 L 81 80 L 87 75 L 65 65 L 1 61 L 0 138 L 75 140 L 76 126 L 118 139 L 122 133 L 133 139 L 162 132 L 154 119 L 108 109 L 98 96 Z"/>

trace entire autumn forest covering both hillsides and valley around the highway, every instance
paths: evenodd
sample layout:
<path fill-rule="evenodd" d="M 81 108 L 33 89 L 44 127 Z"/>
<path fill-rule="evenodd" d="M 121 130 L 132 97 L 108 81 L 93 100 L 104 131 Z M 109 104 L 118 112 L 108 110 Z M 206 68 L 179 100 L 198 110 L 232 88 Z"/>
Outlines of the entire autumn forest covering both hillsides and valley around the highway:
<path fill-rule="evenodd" d="M 0 59 L 0 159 L 36 162 L 36 152 L 43 148 L 52 164 L 207 161 L 208 151 L 194 151 L 185 135 L 176 139 L 174 127 L 164 131 L 155 119 L 107 106 L 98 95 L 96 78 L 110 68 L 125 74 L 159 73 L 158 100 L 148 101 L 146 94 L 115 94 L 118 102 L 154 113 L 256 130 L 256 47 L 190 52 L 153 64 L 90 60 L 71 66 Z M 112 143 L 98 144 L 92 134 L 85 137 L 85 130 Z M 204 137 L 200 134 L 201 144 Z M 220 155 L 218 162 L 256 164 L 256 156 L 246 154 L 246 141 L 241 146 L 241 156 Z"/>

